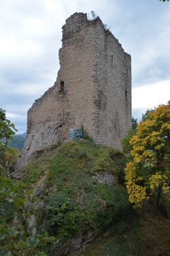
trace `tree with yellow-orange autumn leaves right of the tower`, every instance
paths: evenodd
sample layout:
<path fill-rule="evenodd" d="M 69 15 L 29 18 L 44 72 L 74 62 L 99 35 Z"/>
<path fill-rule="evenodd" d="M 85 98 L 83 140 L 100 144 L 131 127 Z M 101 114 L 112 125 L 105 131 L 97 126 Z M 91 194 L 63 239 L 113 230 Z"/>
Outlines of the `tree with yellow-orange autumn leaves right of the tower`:
<path fill-rule="evenodd" d="M 130 145 L 132 160 L 124 170 L 129 201 L 141 207 L 154 194 L 158 207 L 161 193 L 170 189 L 170 101 L 147 111 Z"/>

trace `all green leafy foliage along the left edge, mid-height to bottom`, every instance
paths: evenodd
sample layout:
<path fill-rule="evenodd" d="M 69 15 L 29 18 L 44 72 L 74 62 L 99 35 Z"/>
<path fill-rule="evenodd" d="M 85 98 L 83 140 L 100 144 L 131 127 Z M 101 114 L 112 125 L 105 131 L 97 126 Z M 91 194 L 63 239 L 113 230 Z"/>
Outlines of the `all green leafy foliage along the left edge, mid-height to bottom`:
<path fill-rule="evenodd" d="M 15 131 L 14 124 L 0 109 L 0 255 L 45 256 L 41 249 L 45 250 L 46 244 L 54 238 L 48 238 L 47 232 L 43 236 L 29 236 L 26 223 L 30 214 L 24 206 L 29 200 L 24 195 L 26 188 L 19 181 L 7 178 L 18 156 L 18 150 L 7 144 Z"/>

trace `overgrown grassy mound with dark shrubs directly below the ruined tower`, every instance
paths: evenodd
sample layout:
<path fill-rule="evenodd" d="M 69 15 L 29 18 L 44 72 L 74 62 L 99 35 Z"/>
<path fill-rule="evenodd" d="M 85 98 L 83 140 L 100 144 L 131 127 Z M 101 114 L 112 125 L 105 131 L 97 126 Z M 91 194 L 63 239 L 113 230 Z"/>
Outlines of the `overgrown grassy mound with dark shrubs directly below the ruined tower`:
<path fill-rule="evenodd" d="M 120 152 L 88 140 L 63 143 L 33 160 L 22 169 L 27 173 L 22 182 L 41 202 L 35 203 L 39 231 L 65 242 L 76 233 L 102 233 L 126 216 L 130 206 L 126 189 L 92 177 L 97 171 L 119 175 L 123 169 Z"/>

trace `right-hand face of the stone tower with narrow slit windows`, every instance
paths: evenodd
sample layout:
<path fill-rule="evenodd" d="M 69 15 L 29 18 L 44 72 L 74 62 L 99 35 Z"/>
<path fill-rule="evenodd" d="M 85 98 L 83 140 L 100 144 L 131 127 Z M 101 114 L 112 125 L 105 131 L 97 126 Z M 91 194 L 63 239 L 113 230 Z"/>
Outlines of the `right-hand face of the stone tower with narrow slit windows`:
<path fill-rule="evenodd" d="M 96 102 L 98 143 L 121 149 L 120 138 L 131 127 L 131 56 L 114 35 L 98 23 Z"/>

